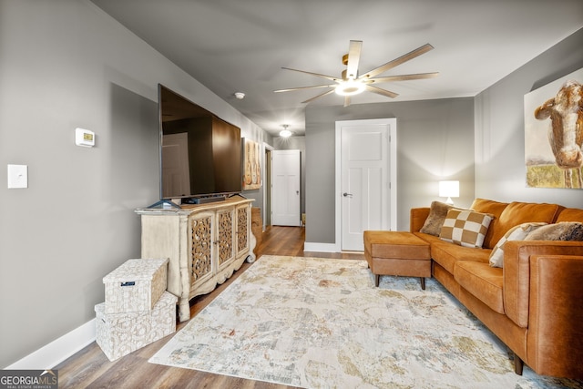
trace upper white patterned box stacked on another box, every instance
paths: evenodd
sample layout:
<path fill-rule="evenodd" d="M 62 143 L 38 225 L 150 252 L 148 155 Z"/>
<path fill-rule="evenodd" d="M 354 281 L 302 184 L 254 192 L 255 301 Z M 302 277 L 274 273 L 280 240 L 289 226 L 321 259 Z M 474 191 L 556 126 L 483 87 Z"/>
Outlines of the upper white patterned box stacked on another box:
<path fill-rule="evenodd" d="M 128 260 L 103 278 L 106 313 L 151 311 L 166 291 L 168 260 Z"/>

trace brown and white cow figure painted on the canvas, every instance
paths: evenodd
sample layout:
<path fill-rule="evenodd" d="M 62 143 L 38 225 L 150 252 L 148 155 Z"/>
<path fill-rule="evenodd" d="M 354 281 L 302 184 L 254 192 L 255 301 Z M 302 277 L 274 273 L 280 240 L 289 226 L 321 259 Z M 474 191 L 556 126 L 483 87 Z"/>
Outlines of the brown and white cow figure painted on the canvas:
<path fill-rule="evenodd" d="M 583 188 L 583 87 L 577 81 L 568 80 L 558 90 L 557 96 L 548 99 L 535 109 L 535 118 L 550 118 L 548 141 L 555 156 L 557 167 L 563 169 L 565 187 Z M 574 181 L 575 180 L 575 181 Z"/>

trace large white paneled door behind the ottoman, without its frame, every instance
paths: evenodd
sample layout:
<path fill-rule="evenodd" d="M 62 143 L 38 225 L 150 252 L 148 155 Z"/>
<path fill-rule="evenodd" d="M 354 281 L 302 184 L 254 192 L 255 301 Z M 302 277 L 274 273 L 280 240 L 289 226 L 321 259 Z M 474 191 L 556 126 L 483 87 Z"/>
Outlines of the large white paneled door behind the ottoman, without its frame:
<path fill-rule="evenodd" d="M 396 124 L 395 119 L 336 123 L 340 138 L 340 184 L 337 188 L 340 189 L 340 246 L 343 251 L 363 251 L 364 230 L 391 230 L 393 123 L 387 120 L 394 120 Z"/>

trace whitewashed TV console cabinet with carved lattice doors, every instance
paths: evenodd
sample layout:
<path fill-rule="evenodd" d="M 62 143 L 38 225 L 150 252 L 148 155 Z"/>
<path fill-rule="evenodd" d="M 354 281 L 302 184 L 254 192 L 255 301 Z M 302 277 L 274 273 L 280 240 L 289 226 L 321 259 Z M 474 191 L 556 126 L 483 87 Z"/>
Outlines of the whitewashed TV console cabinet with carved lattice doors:
<path fill-rule="evenodd" d="M 180 322 L 189 320 L 189 300 L 211 292 L 255 261 L 251 202 L 241 196 L 181 209 L 139 209 L 142 258 L 167 258 L 168 291 L 179 297 Z"/>

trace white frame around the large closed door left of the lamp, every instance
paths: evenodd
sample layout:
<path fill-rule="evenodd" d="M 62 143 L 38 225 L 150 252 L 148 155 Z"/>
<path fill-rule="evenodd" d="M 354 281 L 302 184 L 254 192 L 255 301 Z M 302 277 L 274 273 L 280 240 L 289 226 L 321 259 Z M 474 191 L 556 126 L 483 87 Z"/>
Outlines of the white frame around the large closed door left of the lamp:
<path fill-rule="evenodd" d="M 343 126 L 389 126 L 389 209 L 391 210 L 390 230 L 397 230 L 397 119 L 373 118 L 360 120 L 338 120 L 335 122 L 335 246 L 336 251 L 342 251 L 342 138 Z"/>

